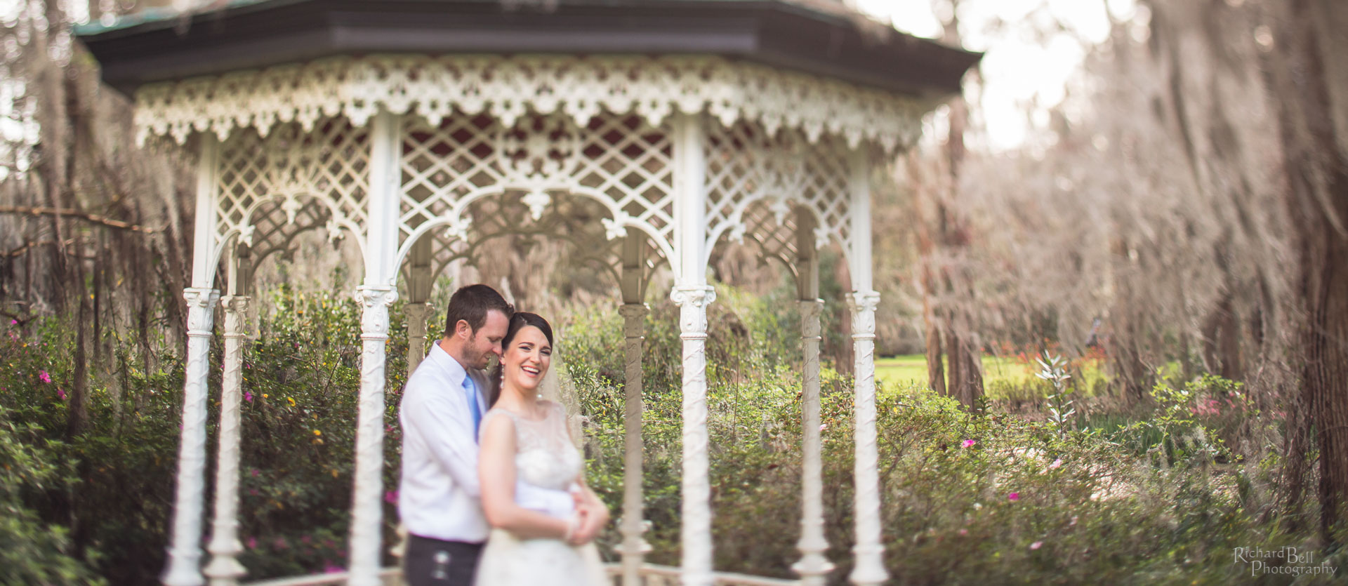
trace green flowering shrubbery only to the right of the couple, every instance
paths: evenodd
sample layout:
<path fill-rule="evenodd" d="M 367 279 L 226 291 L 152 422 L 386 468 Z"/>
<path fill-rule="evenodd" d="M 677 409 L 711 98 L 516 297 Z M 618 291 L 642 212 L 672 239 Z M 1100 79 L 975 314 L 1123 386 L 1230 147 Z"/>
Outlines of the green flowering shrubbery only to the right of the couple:
<path fill-rule="evenodd" d="M 721 291 L 717 304 L 725 300 L 727 307 L 710 319 L 709 345 L 717 348 L 709 353 L 744 352 L 739 364 L 755 370 L 713 362 L 708 372 L 714 563 L 724 571 L 791 577 L 790 564 L 799 558 L 799 361 L 771 348 L 785 335 L 775 331 L 790 323 L 789 315 L 767 323 L 745 319 L 766 315 L 755 311 L 763 302 Z M 662 311 L 658 306 L 654 315 Z M 744 319 L 748 339 L 732 349 L 714 330 L 736 319 Z M 561 344 L 588 418 L 589 478 L 617 512 L 623 391 L 615 323 L 611 311 L 577 315 Z M 650 321 L 648 360 L 678 356 L 669 323 Z M 1064 370 L 1062 361 L 1049 364 Z M 681 395 L 674 375 L 669 362 L 646 362 L 646 539 L 654 546 L 648 559 L 669 564 L 679 563 Z M 825 368 L 821 379 L 825 523 L 838 566 L 830 583 L 844 583 L 855 544 L 851 377 Z M 1209 380 L 1202 392 L 1220 388 Z M 1173 419 L 1194 415 L 1192 407 L 1170 408 L 1171 415 L 1153 418 L 1155 426 L 1192 435 Z M 1189 447 L 1171 450 L 1162 466 L 1147 455 L 1155 443 L 1136 446 L 1159 441 L 1154 427 L 1126 422 L 1122 430 L 1076 430 L 995 410 L 971 414 L 921 389 L 882 392 L 878 408 L 886 562 L 896 583 L 987 583 L 989 577 L 998 583 L 1246 583 L 1250 568 L 1232 563 L 1232 548 L 1312 547 L 1304 535 L 1258 517 L 1260 502 L 1248 488 L 1267 481 L 1273 462 L 1219 469 L 1211 451 Z M 1065 416 L 1072 411 L 1066 403 L 1060 408 Z M 616 531 L 605 536 L 611 558 L 619 543 Z M 1279 579 L 1264 575 L 1260 583 Z"/>

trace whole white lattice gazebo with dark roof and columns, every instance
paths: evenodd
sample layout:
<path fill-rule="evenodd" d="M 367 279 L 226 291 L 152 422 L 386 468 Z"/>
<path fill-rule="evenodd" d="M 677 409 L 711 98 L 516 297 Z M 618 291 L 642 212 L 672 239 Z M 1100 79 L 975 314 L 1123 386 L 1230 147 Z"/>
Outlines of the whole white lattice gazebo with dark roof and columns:
<path fill-rule="evenodd" d="M 388 307 L 407 296 L 425 353 L 434 276 L 504 233 L 565 237 L 619 276 L 627 333 L 624 585 L 779 583 L 712 568 L 706 283 L 712 249 L 749 238 L 797 276 L 803 339 L 799 583 L 822 585 L 817 249 L 851 273 L 856 376 L 856 558 L 887 579 L 880 542 L 868 178 L 911 145 L 923 113 L 977 54 L 867 34 L 816 0 L 233 0 L 147 12 L 81 38 L 133 96 L 139 139 L 197 159 L 187 366 L 166 585 L 235 585 L 240 362 L 255 264 L 297 233 L 350 238 L 364 257 L 360 412 L 349 571 L 288 583 L 375 585 L 381 570 Z M 549 4 L 549 3 L 541 3 Z M 186 27 L 185 27 L 186 24 Z M 643 563 L 642 331 L 667 263 L 683 344 L 682 564 Z M 224 287 L 216 283 L 222 265 Z M 402 283 L 399 283 L 402 280 Z M 224 295 L 221 294 L 224 290 Z M 225 338 L 210 542 L 208 346 Z M 208 563 L 202 563 L 209 554 Z"/>

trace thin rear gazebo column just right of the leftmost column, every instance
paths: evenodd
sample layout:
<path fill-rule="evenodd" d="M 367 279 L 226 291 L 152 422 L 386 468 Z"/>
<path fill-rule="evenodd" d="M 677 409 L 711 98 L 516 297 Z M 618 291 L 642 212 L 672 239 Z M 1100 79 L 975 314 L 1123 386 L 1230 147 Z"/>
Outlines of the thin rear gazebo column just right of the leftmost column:
<path fill-rule="evenodd" d="M 236 287 L 231 280 L 231 287 Z M 225 308 L 225 365 L 220 389 L 220 446 L 216 461 L 216 519 L 210 528 L 212 586 L 233 586 L 247 574 L 239 563 L 239 422 L 243 388 L 243 346 L 248 335 L 248 295 L 221 299 Z"/>

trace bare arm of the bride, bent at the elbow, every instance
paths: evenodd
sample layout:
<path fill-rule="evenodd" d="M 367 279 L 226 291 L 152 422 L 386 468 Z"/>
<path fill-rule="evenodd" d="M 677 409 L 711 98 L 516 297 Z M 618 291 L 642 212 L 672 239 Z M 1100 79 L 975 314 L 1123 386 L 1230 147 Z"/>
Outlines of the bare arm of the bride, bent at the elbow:
<path fill-rule="evenodd" d="M 515 504 L 515 422 L 510 418 L 483 422 L 477 476 L 483 488 L 483 512 L 492 527 L 524 539 L 570 538 L 572 519 L 553 517 Z"/>

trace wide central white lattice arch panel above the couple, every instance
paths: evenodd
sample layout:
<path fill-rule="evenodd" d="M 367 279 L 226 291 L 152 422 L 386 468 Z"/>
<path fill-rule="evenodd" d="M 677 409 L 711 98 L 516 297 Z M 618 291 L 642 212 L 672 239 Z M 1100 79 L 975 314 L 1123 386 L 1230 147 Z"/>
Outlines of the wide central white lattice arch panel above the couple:
<path fill-rule="evenodd" d="M 414 238 L 434 238 L 438 271 L 472 256 L 465 242 L 547 233 L 584 242 L 578 249 L 601 252 L 612 267 L 619 238 L 638 228 L 651 237 L 656 255 L 667 257 L 673 182 L 669 132 L 635 115 L 600 115 L 584 127 L 562 115 L 524 115 L 510 127 L 485 115 L 456 115 L 438 124 L 408 116 L 402 253 L 406 257 Z M 480 198 L 497 201 L 496 211 L 483 213 L 474 205 Z"/>

